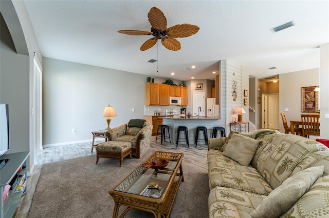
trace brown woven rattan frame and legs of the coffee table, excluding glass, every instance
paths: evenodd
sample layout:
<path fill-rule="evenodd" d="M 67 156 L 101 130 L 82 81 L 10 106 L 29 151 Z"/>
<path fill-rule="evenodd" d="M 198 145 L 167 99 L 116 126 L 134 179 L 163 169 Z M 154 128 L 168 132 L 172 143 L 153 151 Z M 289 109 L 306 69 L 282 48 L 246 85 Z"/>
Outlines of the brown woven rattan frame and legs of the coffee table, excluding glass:
<path fill-rule="evenodd" d="M 176 167 L 172 168 L 173 169 L 172 172 L 166 169 L 163 170 L 159 169 L 153 172 L 155 175 L 158 173 L 160 174 L 172 173 L 174 176 L 174 177 L 173 176 L 170 177 L 167 187 L 159 199 L 153 197 L 147 197 L 139 194 L 132 194 L 122 190 L 125 189 L 125 187 L 131 187 L 132 185 L 134 185 L 132 182 L 139 177 L 140 173 L 144 173 L 143 170 L 147 170 L 141 167 L 142 164 L 139 165 L 130 175 L 125 177 L 125 179 L 123 179 L 114 188 L 109 190 L 108 193 L 113 197 L 115 202 L 113 218 L 122 218 L 127 213 L 127 211 L 131 209 L 150 212 L 154 215 L 155 218 L 170 217 L 170 213 L 175 202 L 175 198 L 180 182 L 184 182 L 184 175 L 181 167 L 181 161 L 183 156 L 184 156 L 183 153 L 156 151 L 149 158 L 147 158 L 147 160 L 143 162 L 143 163 L 150 163 L 150 161 L 156 160 L 157 158 L 162 158 L 169 161 L 173 161 L 173 160 L 178 161 Z M 125 206 L 125 208 L 121 210 L 122 212 L 120 212 L 119 214 L 119 208 L 121 206 Z"/>

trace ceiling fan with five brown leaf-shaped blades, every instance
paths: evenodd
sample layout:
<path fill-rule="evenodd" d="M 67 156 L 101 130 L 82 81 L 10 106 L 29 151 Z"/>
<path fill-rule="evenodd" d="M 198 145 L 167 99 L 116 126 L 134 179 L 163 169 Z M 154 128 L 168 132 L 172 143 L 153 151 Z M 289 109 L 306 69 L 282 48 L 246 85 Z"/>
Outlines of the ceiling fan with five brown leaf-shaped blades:
<path fill-rule="evenodd" d="M 127 35 L 153 35 L 153 38 L 148 39 L 141 47 L 141 51 L 152 48 L 161 39 L 161 43 L 167 49 L 172 51 L 180 50 L 180 43 L 176 38 L 188 37 L 199 31 L 199 27 L 191 24 L 177 24 L 167 28 L 167 18 L 163 12 L 153 7 L 148 13 L 151 31 L 143 30 L 119 30 L 119 33 Z"/>

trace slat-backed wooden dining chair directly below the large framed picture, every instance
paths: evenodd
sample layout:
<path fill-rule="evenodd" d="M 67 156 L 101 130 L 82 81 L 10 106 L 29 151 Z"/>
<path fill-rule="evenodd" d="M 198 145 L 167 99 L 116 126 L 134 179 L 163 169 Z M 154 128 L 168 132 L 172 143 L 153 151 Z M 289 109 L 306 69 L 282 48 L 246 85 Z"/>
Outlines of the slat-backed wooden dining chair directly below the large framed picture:
<path fill-rule="evenodd" d="M 301 114 L 302 136 L 320 135 L 320 114 Z"/>

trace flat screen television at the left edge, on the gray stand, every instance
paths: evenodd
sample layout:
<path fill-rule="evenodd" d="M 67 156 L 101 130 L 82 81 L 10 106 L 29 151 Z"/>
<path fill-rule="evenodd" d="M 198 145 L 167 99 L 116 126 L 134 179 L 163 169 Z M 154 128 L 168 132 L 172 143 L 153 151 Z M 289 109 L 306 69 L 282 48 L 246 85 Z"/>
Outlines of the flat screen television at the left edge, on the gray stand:
<path fill-rule="evenodd" d="M 9 150 L 9 115 L 8 105 L 0 104 L 0 156 Z M 5 166 L 9 159 L 0 160 L 0 169 Z"/>

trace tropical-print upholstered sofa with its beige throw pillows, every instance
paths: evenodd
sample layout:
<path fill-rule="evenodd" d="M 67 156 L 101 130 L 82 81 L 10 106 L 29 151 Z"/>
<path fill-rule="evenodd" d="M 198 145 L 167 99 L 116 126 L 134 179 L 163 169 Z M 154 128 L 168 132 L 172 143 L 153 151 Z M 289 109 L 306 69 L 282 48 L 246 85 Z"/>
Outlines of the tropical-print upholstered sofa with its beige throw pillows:
<path fill-rule="evenodd" d="M 211 138 L 209 217 L 329 217 L 329 149 L 258 130 Z"/>

